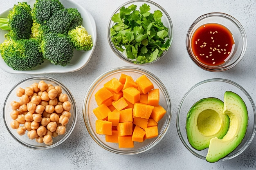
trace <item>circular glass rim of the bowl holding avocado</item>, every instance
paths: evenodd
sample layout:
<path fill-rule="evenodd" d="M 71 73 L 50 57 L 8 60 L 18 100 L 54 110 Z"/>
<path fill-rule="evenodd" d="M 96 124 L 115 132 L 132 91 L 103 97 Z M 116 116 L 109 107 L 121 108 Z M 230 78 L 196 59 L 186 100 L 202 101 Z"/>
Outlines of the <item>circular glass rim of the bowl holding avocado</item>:
<path fill-rule="evenodd" d="M 249 101 L 251 102 L 252 104 L 252 108 L 253 108 L 253 112 L 254 112 L 254 123 L 253 123 L 253 128 L 252 128 L 252 132 L 250 134 L 250 138 L 246 141 L 245 145 L 240 148 L 240 150 L 238 150 L 238 152 L 235 154 L 235 155 L 227 155 L 226 157 L 220 159 L 219 161 L 226 161 L 226 160 L 229 160 L 229 159 L 232 159 L 234 157 L 237 157 L 238 155 L 240 155 L 242 152 L 244 152 L 248 146 L 251 144 L 252 140 L 254 139 L 254 135 L 255 135 L 255 132 L 256 132 L 256 106 L 254 104 L 254 101 L 252 99 L 252 97 L 249 95 L 249 93 L 242 87 L 240 86 L 239 84 L 237 84 L 236 82 L 233 82 L 231 80 L 228 80 L 228 79 L 222 79 L 222 78 L 213 78 L 213 79 L 206 79 L 206 80 L 203 80 L 197 84 L 195 84 L 194 86 L 192 86 L 191 88 L 189 88 L 189 90 L 185 93 L 185 95 L 182 97 L 181 101 L 180 101 L 180 104 L 177 108 L 177 113 L 176 113 L 176 128 L 177 128 L 177 132 L 178 132 L 178 135 L 180 137 L 180 140 L 182 141 L 183 145 L 187 148 L 187 150 L 189 150 L 194 156 L 200 158 L 200 159 L 204 159 L 206 160 L 205 157 L 199 155 L 198 153 L 194 152 L 192 150 L 192 147 L 189 147 L 188 144 L 186 144 L 186 142 L 184 141 L 184 138 L 182 137 L 182 133 L 180 131 L 180 123 L 179 123 L 179 116 L 180 116 L 180 110 L 181 110 L 181 107 L 182 107 L 182 104 L 184 102 L 184 100 L 186 99 L 187 95 L 189 95 L 189 93 L 191 91 L 193 91 L 196 87 L 202 85 L 202 84 L 205 84 L 205 83 L 209 83 L 209 82 L 225 82 L 225 83 L 228 83 L 228 84 L 231 84 L 235 87 L 237 87 L 238 89 L 240 89 L 240 91 L 242 91 L 246 96 L 247 98 L 249 99 Z M 232 152 L 231 152 L 232 153 Z"/>

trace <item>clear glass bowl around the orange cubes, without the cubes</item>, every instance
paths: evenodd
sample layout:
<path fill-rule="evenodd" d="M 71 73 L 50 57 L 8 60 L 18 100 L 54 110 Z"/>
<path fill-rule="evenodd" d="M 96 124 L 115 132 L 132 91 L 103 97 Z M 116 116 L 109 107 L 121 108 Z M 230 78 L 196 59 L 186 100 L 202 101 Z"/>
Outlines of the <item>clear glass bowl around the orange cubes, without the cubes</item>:
<path fill-rule="evenodd" d="M 152 139 L 146 139 L 142 143 L 134 142 L 134 148 L 118 148 L 118 144 L 106 142 L 105 135 L 98 135 L 95 132 L 95 121 L 97 120 L 97 118 L 92 110 L 94 108 L 97 108 L 98 106 L 95 102 L 94 95 L 100 88 L 103 87 L 103 84 L 108 82 L 110 79 L 114 77 L 119 79 L 121 73 L 130 75 L 133 79 L 137 79 L 141 75 L 146 75 L 148 79 L 150 79 L 150 81 L 154 84 L 154 87 L 159 88 L 159 104 L 166 110 L 166 114 L 164 115 L 163 119 L 158 122 L 158 136 Z M 114 68 L 100 75 L 88 88 L 88 91 L 85 94 L 85 99 L 83 101 L 83 118 L 89 134 L 91 135 L 92 139 L 97 144 L 99 144 L 99 146 L 113 153 L 122 155 L 133 155 L 149 150 L 164 137 L 171 122 L 171 100 L 164 84 L 152 73 L 136 67 Z"/>

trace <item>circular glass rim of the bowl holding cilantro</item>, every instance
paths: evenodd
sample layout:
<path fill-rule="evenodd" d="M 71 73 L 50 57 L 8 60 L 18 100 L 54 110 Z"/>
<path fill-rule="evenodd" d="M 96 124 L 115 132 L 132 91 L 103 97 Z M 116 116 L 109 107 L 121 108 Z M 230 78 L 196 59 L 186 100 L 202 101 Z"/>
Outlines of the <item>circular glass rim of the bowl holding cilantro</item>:
<path fill-rule="evenodd" d="M 163 53 L 162 53 L 162 55 L 160 56 L 160 57 L 157 57 L 157 59 L 156 60 L 154 60 L 153 62 L 149 62 L 149 63 L 144 63 L 144 64 L 135 64 L 133 61 L 131 61 L 130 59 L 128 59 L 127 57 L 124 57 L 121 53 L 120 53 L 120 51 L 118 51 L 116 48 L 115 48 L 115 46 L 113 45 L 113 43 L 112 43 L 112 41 L 111 41 L 111 36 L 110 36 L 110 26 L 111 26 L 111 22 L 112 22 L 112 20 L 111 20 L 111 18 L 112 18 L 112 16 L 115 14 L 115 13 L 117 13 L 119 10 L 120 10 L 120 8 L 121 7 L 124 7 L 124 6 L 126 6 L 127 4 L 130 4 L 130 3 L 132 3 L 132 2 L 145 2 L 146 4 L 153 4 L 153 5 L 155 5 L 157 8 L 159 8 L 165 15 L 166 15 L 166 18 L 167 18 L 167 20 L 168 20 L 168 22 L 169 22 L 169 24 L 170 24 L 170 28 L 168 28 L 169 29 L 169 33 L 170 33 L 170 35 L 169 35 L 169 39 L 170 39 L 170 46 L 169 46 L 169 48 L 167 49 L 167 50 L 165 50 Z M 125 2 L 124 4 L 122 4 L 122 5 L 120 5 L 113 13 L 112 13 L 112 15 L 111 15 L 111 17 L 110 17 L 110 19 L 109 19 L 109 21 L 108 21 L 108 31 L 107 31 L 107 38 L 108 38 L 108 44 L 110 45 L 110 48 L 112 49 L 112 51 L 117 55 L 117 57 L 119 57 L 121 60 L 123 60 L 123 61 L 125 61 L 125 62 L 128 62 L 128 63 L 130 63 L 130 64 L 134 64 L 134 65 L 139 65 L 139 66 L 144 66 L 144 65 L 148 65 L 148 64 L 153 64 L 154 62 L 157 62 L 158 60 L 160 60 L 162 57 L 164 57 L 164 55 L 166 55 L 166 53 L 168 52 L 168 50 L 171 48 L 171 44 L 172 44 L 172 42 L 173 42 L 173 23 L 172 23 L 172 21 L 171 21 L 171 18 L 170 18 L 170 16 L 169 16 L 169 14 L 167 13 L 167 11 L 164 9 L 164 8 L 162 8 L 159 4 L 157 4 L 157 3 L 155 3 L 155 2 L 153 2 L 153 1 L 151 1 L 151 0 L 130 0 L 130 1 L 128 1 L 128 2 Z"/>

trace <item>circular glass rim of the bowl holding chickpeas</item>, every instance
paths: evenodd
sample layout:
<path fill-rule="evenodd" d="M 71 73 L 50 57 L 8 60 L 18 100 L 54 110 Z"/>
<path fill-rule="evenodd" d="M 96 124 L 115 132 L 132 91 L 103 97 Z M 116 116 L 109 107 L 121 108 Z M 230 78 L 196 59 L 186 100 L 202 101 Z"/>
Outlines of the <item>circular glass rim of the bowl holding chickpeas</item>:
<path fill-rule="evenodd" d="M 52 144 L 52 145 L 47 145 L 47 146 L 29 146 L 27 144 L 24 144 L 22 141 L 20 141 L 18 138 L 16 138 L 13 133 L 9 130 L 9 128 L 7 126 L 7 122 L 6 122 L 6 119 L 5 119 L 5 106 L 7 104 L 7 100 L 9 99 L 9 96 L 11 95 L 11 92 L 13 92 L 14 88 L 18 87 L 21 83 L 24 83 L 24 82 L 27 82 L 27 81 L 30 81 L 32 79 L 40 79 L 40 78 L 43 78 L 43 79 L 47 79 L 48 81 L 53 81 L 55 82 L 56 84 L 60 84 L 61 86 L 64 87 L 65 91 L 67 91 L 67 93 L 69 93 L 70 95 L 70 99 L 72 101 L 72 104 L 73 104 L 73 108 L 74 108 L 74 119 L 73 119 L 73 122 L 72 122 L 72 125 L 70 127 L 70 130 L 69 132 L 63 136 L 62 139 L 60 139 L 60 141 L 56 142 L 55 144 Z M 59 82 L 58 80 L 52 78 L 52 77 L 46 77 L 46 76 L 31 76 L 31 77 L 27 77 L 25 79 L 22 79 L 20 82 L 16 83 L 12 88 L 11 90 L 9 91 L 7 97 L 5 98 L 4 100 L 4 105 L 3 105 L 3 120 L 4 120 L 4 124 L 5 124 L 5 127 L 7 129 L 7 131 L 10 133 L 10 135 L 13 137 L 13 139 L 15 139 L 19 144 L 21 144 L 22 146 L 25 146 L 27 148 L 30 148 L 30 149 L 34 149 L 34 150 L 45 150 L 45 149 L 50 149 L 50 148 L 54 148 L 55 146 L 58 146 L 60 144 L 62 144 L 70 135 L 71 133 L 73 132 L 74 128 L 75 128 L 75 125 L 76 125 L 76 120 L 77 120 L 77 109 L 76 109 L 76 102 L 74 100 L 74 97 L 72 95 L 72 93 L 70 92 L 70 90 L 64 85 L 62 84 L 61 82 Z"/>

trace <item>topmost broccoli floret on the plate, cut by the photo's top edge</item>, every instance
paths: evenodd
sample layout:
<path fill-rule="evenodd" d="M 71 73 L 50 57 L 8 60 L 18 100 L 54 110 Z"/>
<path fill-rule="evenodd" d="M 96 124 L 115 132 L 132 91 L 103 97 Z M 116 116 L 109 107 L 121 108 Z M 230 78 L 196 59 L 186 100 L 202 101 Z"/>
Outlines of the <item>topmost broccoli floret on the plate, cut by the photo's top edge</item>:
<path fill-rule="evenodd" d="M 60 9 L 64 9 L 64 6 L 59 0 L 36 0 L 31 14 L 34 22 L 45 24 Z"/>

